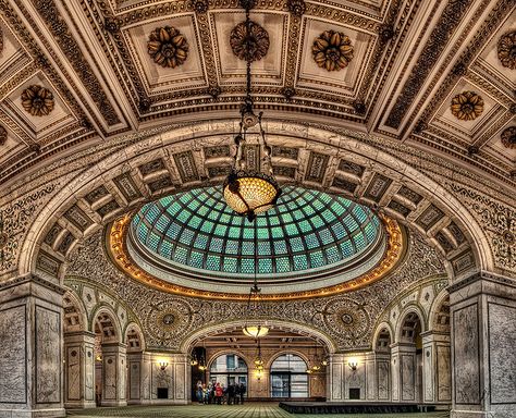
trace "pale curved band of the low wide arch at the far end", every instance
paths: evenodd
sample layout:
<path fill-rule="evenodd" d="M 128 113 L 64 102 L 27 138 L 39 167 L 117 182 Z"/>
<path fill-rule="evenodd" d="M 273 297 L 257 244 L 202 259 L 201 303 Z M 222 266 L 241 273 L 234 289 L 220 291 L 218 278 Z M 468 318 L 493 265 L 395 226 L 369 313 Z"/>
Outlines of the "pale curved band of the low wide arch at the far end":
<path fill-rule="evenodd" d="M 267 320 L 267 324 L 270 328 L 277 328 L 281 330 L 288 330 L 298 332 L 302 334 L 310 335 L 316 340 L 322 342 L 330 354 L 335 353 L 336 351 L 336 343 L 328 336 L 325 333 L 321 332 L 311 327 L 307 327 L 296 322 L 288 322 L 288 321 L 278 321 L 278 320 Z M 237 321 L 228 321 L 218 323 L 217 325 L 202 328 L 197 330 L 196 332 L 186 335 L 180 344 L 180 351 L 183 354 L 188 354 L 192 347 L 194 347 L 199 341 L 204 340 L 209 335 L 216 335 L 218 333 L 224 332 L 226 330 L 234 330 L 234 329 L 242 329 L 245 325 L 245 320 L 237 320 Z"/>

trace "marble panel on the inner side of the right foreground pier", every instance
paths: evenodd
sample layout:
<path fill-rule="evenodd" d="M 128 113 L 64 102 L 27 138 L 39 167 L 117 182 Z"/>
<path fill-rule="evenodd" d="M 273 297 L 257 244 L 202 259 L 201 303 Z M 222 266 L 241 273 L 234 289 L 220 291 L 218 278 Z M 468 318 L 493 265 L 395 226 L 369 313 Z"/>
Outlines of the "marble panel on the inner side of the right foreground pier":
<path fill-rule="evenodd" d="M 455 403 L 480 403 L 478 305 L 453 311 Z"/>

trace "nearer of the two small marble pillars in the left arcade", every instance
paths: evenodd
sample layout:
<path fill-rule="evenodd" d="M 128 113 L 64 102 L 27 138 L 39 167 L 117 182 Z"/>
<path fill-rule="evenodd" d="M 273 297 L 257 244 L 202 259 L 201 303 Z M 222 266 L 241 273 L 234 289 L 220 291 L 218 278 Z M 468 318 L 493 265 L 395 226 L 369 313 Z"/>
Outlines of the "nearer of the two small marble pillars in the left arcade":
<path fill-rule="evenodd" d="M 95 407 L 95 334 L 71 332 L 64 335 L 64 406 Z"/>

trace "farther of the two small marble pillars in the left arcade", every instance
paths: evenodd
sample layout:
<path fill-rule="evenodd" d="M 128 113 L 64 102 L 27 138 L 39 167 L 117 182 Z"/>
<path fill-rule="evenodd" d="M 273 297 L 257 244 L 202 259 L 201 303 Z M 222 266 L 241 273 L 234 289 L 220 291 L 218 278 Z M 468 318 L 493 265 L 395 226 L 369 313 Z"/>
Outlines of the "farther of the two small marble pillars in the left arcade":
<path fill-rule="evenodd" d="M 125 406 L 127 360 L 126 345 L 102 344 L 102 406 Z"/>

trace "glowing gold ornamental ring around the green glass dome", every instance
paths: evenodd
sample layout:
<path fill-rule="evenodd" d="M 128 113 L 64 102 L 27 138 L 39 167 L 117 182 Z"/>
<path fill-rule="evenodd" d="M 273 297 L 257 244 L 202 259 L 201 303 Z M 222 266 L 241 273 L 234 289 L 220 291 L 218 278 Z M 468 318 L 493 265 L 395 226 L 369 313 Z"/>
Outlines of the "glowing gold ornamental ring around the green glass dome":
<path fill-rule="evenodd" d="M 107 228 L 106 245 L 108 255 L 113 263 L 123 273 L 130 278 L 155 287 L 157 290 L 183 295 L 183 296 L 195 296 L 200 298 L 210 299 L 248 299 L 248 293 L 228 293 L 228 292 L 214 292 L 206 290 L 197 290 L 194 287 L 186 287 L 183 285 L 167 282 L 156 275 L 152 275 L 142 269 L 135 260 L 128 254 L 126 245 L 126 235 L 131 226 L 133 216 L 137 210 L 124 214 L 116 219 Z M 311 288 L 299 292 L 290 293 L 263 293 L 261 295 L 262 300 L 279 300 L 279 299 L 300 299 L 318 296 L 329 296 L 332 294 L 339 294 L 349 292 L 359 287 L 364 287 L 372 282 L 376 282 L 384 278 L 390 273 L 397 263 L 403 259 L 406 251 L 406 233 L 401 225 L 393 219 L 379 214 L 381 222 L 383 222 L 386 234 L 386 250 L 383 258 L 368 272 L 343 283 L 339 283 L 330 286 L 322 286 L 318 288 Z"/>

